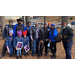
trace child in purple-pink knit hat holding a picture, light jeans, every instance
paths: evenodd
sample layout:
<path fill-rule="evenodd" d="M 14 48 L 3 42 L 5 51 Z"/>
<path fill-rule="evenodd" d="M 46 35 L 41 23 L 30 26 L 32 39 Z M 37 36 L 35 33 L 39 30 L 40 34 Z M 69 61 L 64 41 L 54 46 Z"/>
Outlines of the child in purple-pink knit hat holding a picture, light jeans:
<path fill-rule="evenodd" d="M 22 30 L 17 31 L 17 36 L 14 38 L 14 48 L 17 50 L 17 43 L 18 42 L 22 42 L 23 43 L 23 37 L 22 37 Z M 22 44 L 22 48 L 23 48 L 23 44 Z M 17 59 L 19 59 L 19 53 L 20 53 L 20 58 L 22 58 L 22 54 L 21 54 L 21 49 L 17 50 Z"/>

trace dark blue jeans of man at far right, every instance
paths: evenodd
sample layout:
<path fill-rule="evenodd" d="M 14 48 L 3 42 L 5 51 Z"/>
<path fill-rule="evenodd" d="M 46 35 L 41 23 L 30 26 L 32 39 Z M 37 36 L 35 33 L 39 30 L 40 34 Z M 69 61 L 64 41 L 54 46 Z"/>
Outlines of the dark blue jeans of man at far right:
<path fill-rule="evenodd" d="M 72 45 L 73 45 L 73 42 L 63 42 L 63 46 L 66 53 L 66 59 L 71 59 Z"/>

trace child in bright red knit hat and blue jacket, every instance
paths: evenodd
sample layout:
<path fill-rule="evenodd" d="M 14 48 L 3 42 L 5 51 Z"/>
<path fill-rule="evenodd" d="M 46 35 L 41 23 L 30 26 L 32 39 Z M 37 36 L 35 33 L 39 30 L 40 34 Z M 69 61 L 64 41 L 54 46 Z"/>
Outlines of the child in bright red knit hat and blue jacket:
<path fill-rule="evenodd" d="M 27 31 L 23 31 L 23 49 L 26 45 L 29 46 L 29 37 L 27 36 Z M 25 49 L 24 49 L 24 56 L 29 56 L 28 52 L 26 53 Z"/>

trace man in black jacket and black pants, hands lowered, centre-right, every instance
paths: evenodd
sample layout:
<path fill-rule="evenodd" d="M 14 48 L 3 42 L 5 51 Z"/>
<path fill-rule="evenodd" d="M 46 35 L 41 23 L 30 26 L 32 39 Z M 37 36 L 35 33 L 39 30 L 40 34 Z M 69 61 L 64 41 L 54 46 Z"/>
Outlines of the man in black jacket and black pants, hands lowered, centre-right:
<path fill-rule="evenodd" d="M 39 31 L 39 40 L 40 40 L 40 50 L 39 50 L 39 57 L 42 57 L 42 51 L 43 51 L 43 48 L 45 46 L 45 55 L 48 54 L 48 51 L 47 51 L 47 44 L 48 44 L 48 36 L 49 36 L 49 31 L 47 29 L 47 24 L 45 23 L 44 24 L 44 27 L 42 29 L 40 29 Z"/>

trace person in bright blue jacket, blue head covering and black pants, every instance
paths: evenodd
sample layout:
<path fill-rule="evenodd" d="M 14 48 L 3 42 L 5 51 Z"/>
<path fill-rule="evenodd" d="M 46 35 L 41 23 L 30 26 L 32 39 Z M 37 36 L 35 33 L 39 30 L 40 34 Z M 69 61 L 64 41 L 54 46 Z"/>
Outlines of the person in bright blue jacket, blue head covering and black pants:
<path fill-rule="evenodd" d="M 51 24 L 51 30 L 49 32 L 50 49 L 52 52 L 52 59 L 56 58 L 56 40 L 55 37 L 58 35 L 58 31 L 55 29 L 55 24 Z"/>

